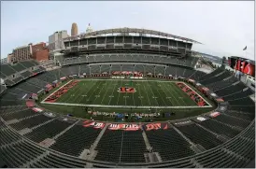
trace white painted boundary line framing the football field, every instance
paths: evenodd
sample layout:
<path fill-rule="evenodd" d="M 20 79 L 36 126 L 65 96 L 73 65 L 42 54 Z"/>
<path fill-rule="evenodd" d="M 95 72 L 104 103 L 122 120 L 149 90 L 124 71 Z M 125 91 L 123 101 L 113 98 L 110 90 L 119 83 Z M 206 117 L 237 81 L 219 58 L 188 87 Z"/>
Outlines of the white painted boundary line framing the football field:
<path fill-rule="evenodd" d="M 120 80 L 120 79 L 79 79 L 79 81 L 85 81 L 85 80 Z M 66 82 L 60 89 L 64 88 L 65 85 L 67 85 L 68 83 L 70 83 L 71 81 L 73 81 L 73 79 L 69 80 L 68 82 Z M 131 79 L 122 79 L 122 81 L 131 81 Z M 171 83 L 176 83 L 176 82 L 180 82 L 183 83 L 184 85 L 188 86 L 186 83 L 184 83 L 183 81 L 165 81 L 165 80 L 140 80 L 140 79 L 136 79 L 135 81 L 157 81 L 157 82 L 171 82 Z M 188 88 L 190 88 L 192 90 L 192 88 L 190 86 L 188 86 Z M 58 92 L 60 89 L 56 90 L 55 92 Z M 193 92 L 195 92 L 194 90 L 192 90 Z M 55 92 L 52 92 L 48 97 L 46 97 L 41 104 L 47 104 L 47 105 L 59 105 L 59 106 L 92 106 L 92 107 L 103 107 L 103 108 L 206 108 L 206 107 L 212 107 L 208 102 L 206 102 L 206 100 L 197 92 L 197 93 L 207 104 L 208 106 L 107 106 L 107 105 L 85 105 L 85 104 L 67 104 L 67 103 L 50 103 L 50 102 L 45 102 L 45 100 L 47 100 L 51 95 L 53 95 Z"/>

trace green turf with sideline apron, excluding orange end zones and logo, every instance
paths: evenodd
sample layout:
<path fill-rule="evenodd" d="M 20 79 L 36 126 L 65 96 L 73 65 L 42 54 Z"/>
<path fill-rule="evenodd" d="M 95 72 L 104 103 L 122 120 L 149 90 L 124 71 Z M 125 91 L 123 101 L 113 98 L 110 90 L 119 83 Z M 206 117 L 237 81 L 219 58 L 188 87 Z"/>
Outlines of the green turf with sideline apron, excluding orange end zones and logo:
<path fill-rule="evenodd" d="M 165 80 L 159 78 L 147 80 L 131 79 L 109 79 L 109 78 L 87 78 L 78 79 L 78 84 L 65 92 L 54 103 L 45 103 L 44 100 L 65 86 L 69 81 L 64 82 L 59 88 L 42 95 L 37 103 L 46 110 L 60 114 L 72 114 L 77 118 L 116 121 L 109 116 L 92 116 L 87 112 L 120 112 L 129 113 L 126 122 L 148 121 L 153 119 L 178 120 L 187 117 L 197 116 L 213 110 L 215 104 L 208 100 L 201 92 L 188 84 L 195 92 L 199 93 L 209 106 L 197 106 L 196 103 L 178 86 L 178 80 Z M 119 92 L 121 87 L 134 88 L 135 92 Z M 41 102 L 42 101 L 42 102 Z M 155 107 L 154 107 L 155 106 Z M 150 108 L 151 107 L 151 108 Z M 143 118 L 135 120 L 133 113 L 154 113 L 175 112 L 169 118 Z M 119 121 L 119 120 L 117 120 Z"/>

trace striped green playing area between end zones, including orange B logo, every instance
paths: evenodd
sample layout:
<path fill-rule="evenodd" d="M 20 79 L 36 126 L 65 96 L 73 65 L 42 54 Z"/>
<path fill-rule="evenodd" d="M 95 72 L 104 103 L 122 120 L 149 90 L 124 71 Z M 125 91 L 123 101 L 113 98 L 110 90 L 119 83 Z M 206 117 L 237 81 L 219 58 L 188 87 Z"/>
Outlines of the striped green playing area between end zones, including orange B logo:
<path fill-rule="evenodd" d="M 120 108 L 199 107 L 187 93 L 178 87 L 176 82 L 132 79 L 82 79 L 54 103 L 48 104 Z"/>

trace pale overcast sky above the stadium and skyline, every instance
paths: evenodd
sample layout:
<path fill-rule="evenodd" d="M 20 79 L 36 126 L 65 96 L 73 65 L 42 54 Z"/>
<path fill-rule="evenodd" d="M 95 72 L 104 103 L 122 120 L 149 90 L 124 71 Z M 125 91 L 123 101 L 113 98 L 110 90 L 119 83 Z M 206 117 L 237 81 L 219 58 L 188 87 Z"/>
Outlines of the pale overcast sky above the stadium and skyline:
<path fill-rule="evenodd" d="M 55 31 L 78 23 L 85 32 L 145 28 L 192 38 L 192 49 L 216 56 L 254 60 L 254 2 L 1 2 L 1 58 L 28 43 L 47 42 Z"/>

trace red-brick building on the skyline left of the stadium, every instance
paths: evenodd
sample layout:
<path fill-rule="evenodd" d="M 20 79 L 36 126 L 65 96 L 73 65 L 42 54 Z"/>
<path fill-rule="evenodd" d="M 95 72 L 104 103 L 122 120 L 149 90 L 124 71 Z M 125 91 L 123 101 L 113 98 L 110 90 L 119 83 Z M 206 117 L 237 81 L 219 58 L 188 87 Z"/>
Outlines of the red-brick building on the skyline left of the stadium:
<path fill-rule="evenodd" d="M 41 42 L 32 46 L 32 58 L 36 61 L 47 61 L 49 60 L 49 49 L 46 43 Z"/>

